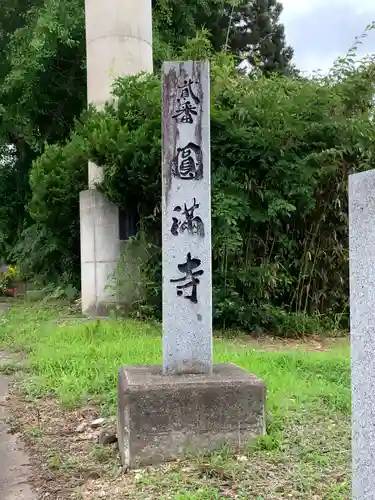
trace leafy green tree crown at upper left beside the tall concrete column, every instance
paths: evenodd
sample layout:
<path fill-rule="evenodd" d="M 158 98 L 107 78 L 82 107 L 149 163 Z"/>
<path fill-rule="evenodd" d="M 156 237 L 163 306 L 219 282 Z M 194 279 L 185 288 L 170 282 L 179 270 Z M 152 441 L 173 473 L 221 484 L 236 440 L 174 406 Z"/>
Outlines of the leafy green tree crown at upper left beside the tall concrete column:
<path fill-rule="evenodd" d="M 0 116 L 8 140 L 39 150 L 69 134 L 85 106 L 86 73 L 83 0 L 35 4 L 7 46 Z"/>

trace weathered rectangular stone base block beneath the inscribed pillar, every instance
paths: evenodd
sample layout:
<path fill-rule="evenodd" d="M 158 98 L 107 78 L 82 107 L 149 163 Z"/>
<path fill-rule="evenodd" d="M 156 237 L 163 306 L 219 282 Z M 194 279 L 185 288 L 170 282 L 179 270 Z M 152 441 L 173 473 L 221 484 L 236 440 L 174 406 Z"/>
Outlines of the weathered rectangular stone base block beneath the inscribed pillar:
<path fill-rule="evenodd" d="M 232 364 L 210 375 L 165 376 L 161 366 L 123 366 L 118 442 L 123 466 L 138 467 L 223 444 L 240 449 L 265 433 L 264 382 Z"/>

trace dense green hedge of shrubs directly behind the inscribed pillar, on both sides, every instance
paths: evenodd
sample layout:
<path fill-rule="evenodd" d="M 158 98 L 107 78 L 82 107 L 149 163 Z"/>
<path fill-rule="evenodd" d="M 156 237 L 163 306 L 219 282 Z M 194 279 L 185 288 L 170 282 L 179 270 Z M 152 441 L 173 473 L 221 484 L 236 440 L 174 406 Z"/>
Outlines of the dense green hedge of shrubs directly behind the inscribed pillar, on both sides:
<path fill-rule="evenodd" d="M 212 203 L 218 324 L 297 331 L 316 328 L 317 316 L 345 317 L 347 178 L 350 172 L 374 166 L 372 92 L 371 62 L 354 67 L 344 61 L 328 78 L 249 79 L 237 74 L 227 56 L 214 59 Z M 71 189 L 83 157 L 105 166 L 100 189 L 141 216 L 152 249 L 142 275 L 149 292 L 145 306 L 149 312 L 153 304 L 153 313 L 158 314 L 160 79 L 142 75 L 124 79 L 114 93 L 117 108 L 108 106 L 86 115 L 72 137 L 72 143 L 81 141 L 78 148 L 68 144 L 58 153 L 56 147 L 52 151 L 63 160 L 56 161 L 47 151 L 34 164 L 32 179 L 38 171 L 50 171 L 52 176 L 55 169 L 61 174 L 69 168 L 70 174 L 61 182 L 60 174 L 50 177 L 57 195 L 46 197 L 43 187 L 37 190 L 37 184 L 47 187 L 42 178 L 33 183 L 32 207 L 44 200 L 43 210 L 33 208 L 33 213 L 39 214 L 40 223 L 45 217 L 43 223 L 53 231 L 54 214 L 61 215 L 52 197 L 66 196 L 64 210 L 71 221 L 78 191 Z M 69 225 L 65 231 L 69 233 Z M 73 247 L 66 249 L 66 255 Z"/>

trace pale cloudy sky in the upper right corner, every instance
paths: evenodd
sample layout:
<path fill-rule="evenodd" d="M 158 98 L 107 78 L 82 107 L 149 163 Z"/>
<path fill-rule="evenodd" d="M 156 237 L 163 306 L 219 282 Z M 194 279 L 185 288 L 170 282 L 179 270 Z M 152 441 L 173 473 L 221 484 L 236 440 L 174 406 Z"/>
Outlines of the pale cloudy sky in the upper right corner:
<path fill-rule="evenodd" d="M 297 68 L 326 72 L 344 56 L 368 24 L 375 21 L 375 0 L 280 0 L 287 43 Z M 375 53 L 375 30 L 359 55 Z"/>

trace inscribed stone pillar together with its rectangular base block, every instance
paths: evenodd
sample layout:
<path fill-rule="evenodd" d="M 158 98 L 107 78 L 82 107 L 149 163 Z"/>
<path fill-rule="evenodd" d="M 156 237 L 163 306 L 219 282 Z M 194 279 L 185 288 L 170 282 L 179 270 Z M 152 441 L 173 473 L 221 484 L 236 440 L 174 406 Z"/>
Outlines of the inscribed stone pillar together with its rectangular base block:
<path fill-rule="evenodd" d="M 157 463 L 265 431 L 265 386 L 212 364 L 209 66 L 163 76 L 163 366 L 123 366 L 118 442 L 124 467 Z"/>

